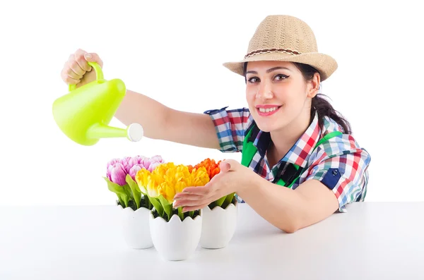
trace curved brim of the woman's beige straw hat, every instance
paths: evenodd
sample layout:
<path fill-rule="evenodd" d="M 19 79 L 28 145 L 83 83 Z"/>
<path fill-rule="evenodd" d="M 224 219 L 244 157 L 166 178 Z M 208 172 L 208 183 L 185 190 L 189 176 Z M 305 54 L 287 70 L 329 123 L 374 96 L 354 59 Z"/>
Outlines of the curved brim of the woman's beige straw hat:
<path fill-rule="evenodd" d="M 236 62 L 225 62 L 223 66 L 230 71 L 243 75 L 243 65 L 249 61 L 288 61 L 308 64 L 319 71 L 321 80 L 324 81 L 336 71 L 338 65 L 335 59 L 327 54 L 307 53 L 307 54 L 287 54 L 283 52 L 266 52 L 249 56 L 247 59 Z"/>

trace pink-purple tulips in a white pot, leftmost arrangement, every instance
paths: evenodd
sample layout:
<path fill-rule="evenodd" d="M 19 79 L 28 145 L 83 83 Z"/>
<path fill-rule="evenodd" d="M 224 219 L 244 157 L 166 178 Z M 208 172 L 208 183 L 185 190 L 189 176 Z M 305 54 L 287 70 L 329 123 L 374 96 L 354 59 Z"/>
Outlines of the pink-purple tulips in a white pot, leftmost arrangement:
<path fill-rule="evenodd" d="M 124 157 L 112 159 L 107 163 L 107 188 L 116 193 L 117 206 L 122 209 L 123 233 L 126 244 L 134 249 L 153 247 L 148 215 L 153 205 L 135 181 L 136 174 L 141 169 L 153 171 L 163 164 L 163 158 L 155 157 Z"/>

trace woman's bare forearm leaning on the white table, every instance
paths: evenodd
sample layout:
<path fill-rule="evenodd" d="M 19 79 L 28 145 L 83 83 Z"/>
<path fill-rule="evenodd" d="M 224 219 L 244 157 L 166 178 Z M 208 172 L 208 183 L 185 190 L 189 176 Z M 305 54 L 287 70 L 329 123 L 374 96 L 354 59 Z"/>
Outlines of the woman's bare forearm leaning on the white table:
<path fill-rule="evenodd" d="M 326 219 L 338 209 L 333 191 L 317 180 L 292 190 L 252 174 L 250 184 L 237 190 L 261 217 L 288 233 Z"/>

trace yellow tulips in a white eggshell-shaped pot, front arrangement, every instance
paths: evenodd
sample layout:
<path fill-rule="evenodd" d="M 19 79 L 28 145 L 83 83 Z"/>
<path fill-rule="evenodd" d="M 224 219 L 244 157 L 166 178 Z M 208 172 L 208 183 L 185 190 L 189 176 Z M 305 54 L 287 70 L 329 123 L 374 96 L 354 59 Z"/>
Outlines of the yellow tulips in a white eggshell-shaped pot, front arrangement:
<path fill-rule="evenodd" d="M 206 169 L 190 171 L 188 166 L 169 162 L 153 171 L 137 171 L 135 180 L 153 205 L 149 224 L 155 249 L 165 260 L 186 260 L 192 256 L 201 237 L 201 211 L 183 213 L 182 207 L 175 209 L 172 202 L 184 188 L 206 185 Z"/>

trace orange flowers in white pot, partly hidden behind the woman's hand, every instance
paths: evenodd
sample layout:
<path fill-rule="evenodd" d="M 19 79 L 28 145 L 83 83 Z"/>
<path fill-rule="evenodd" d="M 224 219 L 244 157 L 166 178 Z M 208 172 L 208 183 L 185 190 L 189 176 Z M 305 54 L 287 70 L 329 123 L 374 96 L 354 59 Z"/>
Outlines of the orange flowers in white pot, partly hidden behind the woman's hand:
<path fill-rule="evenodd" d="M 220 173 L 220 162 L 214 159 L 204 159 L 196 164 L 193 170 L 205 168 L 209 180 Z M 235 193 L 230 193 L 219 200 L 211 202 L 202 209 L 202 231 L 199 241 L 202 248 L 224 248 L 235 233 L 237 224 L 237 199 Z"/>

